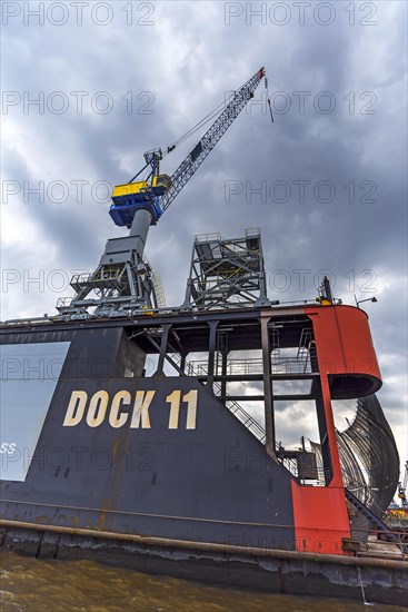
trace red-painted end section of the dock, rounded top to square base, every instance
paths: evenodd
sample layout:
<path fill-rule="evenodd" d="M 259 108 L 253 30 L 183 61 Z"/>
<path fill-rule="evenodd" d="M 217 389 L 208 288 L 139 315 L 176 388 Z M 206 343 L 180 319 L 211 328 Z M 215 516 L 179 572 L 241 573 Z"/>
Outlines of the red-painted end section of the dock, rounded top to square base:
<path fill-rule="evenodd" d="M 296 547 L 300 552 L 349 555 L 342 550 L 342 539 L 351 537 L 351 530 L 330 385 L 340 376 L 345 393 L 354 397 L 361 377 L 367 378 L 367 388 L 371 384 L 379 388 L 381 375 L 364 310 L 352 306 L 318 306 L 305 308 L 305 314 L 314 324 L 334 476 L 328 486 L 301 485 L 292 481 Z"/>

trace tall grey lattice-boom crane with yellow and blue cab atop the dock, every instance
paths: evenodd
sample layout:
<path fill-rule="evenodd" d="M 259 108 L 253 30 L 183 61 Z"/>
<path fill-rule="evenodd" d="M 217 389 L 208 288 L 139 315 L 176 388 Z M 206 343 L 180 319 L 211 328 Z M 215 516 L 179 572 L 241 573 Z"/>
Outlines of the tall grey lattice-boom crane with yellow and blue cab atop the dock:
<path fill-rule="evenodd" d="M 71 278 L 70 285 L 76 292 L 74 297 L 60 298 L 57 303 L 57 309 L 64 318 L 131 316 L 141 309 L 163 306 L 158 299 L 158 294 L 161 293 L 160 283 L 143 255 L 149 228 L 158 223 L 165 210 L 201 166 L 253 97 L 255 90 L 263 78 L 268 89 L 262 67 L 235 91 L 226 105 L 217 107 L 176 144 L 169 146 L 165 152 L 161 148 L 145 152 L 143 168 L 128 184 L 113 188 L 109 214 L 116 225 L 126 226 L 129 229 L 129 236 L 109 239 L 97 269 L 91 274 L 78 274 Z M 267 99 L 273 121 L 269 95 Z M 217 119 L 172 176 L 160 174 L 160 162 L 163 157 L 215 116 Z M 136 181 L 135 179 L 147 169 L 147 178 Z"/>

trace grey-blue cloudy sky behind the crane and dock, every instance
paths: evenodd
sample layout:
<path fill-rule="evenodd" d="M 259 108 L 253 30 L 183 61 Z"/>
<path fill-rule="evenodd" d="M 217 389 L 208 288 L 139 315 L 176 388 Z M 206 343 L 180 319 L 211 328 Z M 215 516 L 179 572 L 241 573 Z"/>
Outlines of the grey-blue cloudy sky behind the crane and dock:
<path fill-rule="evenodd" d="M 404 1 L 2 2 L 2 319 L 54 313 L 108 238 L 110 186 L 267 69 L 147 256 L 183 299 L 195 234 L 262 230 L 269 297 L 368 302 L 407 454 Z M 166 158 L 171 174 L 193 141 Z M 340 423 L 342 426 L 345 423 Z"/>

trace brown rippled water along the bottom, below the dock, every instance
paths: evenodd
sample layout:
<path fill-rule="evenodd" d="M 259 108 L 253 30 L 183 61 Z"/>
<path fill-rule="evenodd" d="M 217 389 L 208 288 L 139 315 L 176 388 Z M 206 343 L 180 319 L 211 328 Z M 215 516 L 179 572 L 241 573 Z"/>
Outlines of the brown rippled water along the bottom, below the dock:
<path fill-rule="evenodd" d="M 361 601 L 269 595 L 99 565 L 2 552 L 1 612 L 400 612 Z"/>

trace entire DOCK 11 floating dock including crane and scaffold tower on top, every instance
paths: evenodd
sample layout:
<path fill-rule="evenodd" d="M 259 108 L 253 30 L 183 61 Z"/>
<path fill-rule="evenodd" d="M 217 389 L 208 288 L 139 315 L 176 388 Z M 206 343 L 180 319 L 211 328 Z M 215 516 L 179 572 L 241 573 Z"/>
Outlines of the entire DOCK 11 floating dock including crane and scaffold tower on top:
<path fill-rule="evenodd" d="M 401 603 L 407 545 L 382 521 L 399 460 L 367 314 L 327 278 L 310 302 L 271 302 L 259 229 L 196 236 L 177 307 L 145 256 L 150 226 L 263 78 L 235 92 L 171 177 L 153 150 L 148 176 L 115 189 L 110 214 L 129 235 L 72 278 L 58 314 L 1 325 L 1 544 Z M 346 432 L 335 399 L 356 399 Z M 307 403 L 319 440 L 296 423 L 298 447 L 277 440 L 282 402 Z M 372 535 L 386 554 L 369 554 Z"/>

